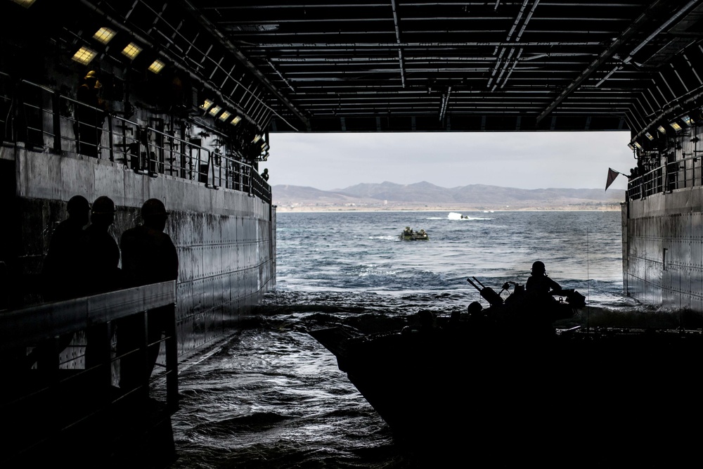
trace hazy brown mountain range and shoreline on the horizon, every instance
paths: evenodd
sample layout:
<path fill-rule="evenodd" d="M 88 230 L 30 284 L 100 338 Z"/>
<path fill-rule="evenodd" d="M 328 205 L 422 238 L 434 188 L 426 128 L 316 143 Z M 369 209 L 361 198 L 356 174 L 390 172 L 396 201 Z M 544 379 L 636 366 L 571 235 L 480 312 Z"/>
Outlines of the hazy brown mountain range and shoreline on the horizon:
<path fill-rule="evenodd" d="M 621 189 L 518 189 L 484 184 L 444 188 L 415 184 L 356 184 L 321 191 L 273 186 L 273 204 L 290 210 L 613 210 L 625 200 Z"/>

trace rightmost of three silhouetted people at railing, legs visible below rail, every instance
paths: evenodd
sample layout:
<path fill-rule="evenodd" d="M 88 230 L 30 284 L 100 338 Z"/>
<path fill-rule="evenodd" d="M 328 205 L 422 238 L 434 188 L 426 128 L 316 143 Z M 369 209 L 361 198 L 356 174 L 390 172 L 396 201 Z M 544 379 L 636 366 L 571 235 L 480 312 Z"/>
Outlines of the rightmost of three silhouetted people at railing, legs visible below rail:
<path fill-rule="evenodd" d="M 141 207 L 143 224 L 122 233 L 122 269 L 128 286 L 148 285 L 178 278 L 179 259 L 171 237 L 164 233 L 168 212 L 158 199 L 149 199 Z M 150 309 L 147 313 L 147 338 L 153 344 L 161 339 L 169 319 L 172 306 Z M 120 321 L 117 332 L 117 349 L 123 352 L 140 345 L 141 328 L 139 316 Z M 120 363 L 120 387 L 135 387 L 148 379 L 156 364 L 160 345 L 151 346 L 147 352 L 147 366 L 138 362 L 137 354 L 131 354 Z M 140 373 L 144 370 L 144 373 Z"/>

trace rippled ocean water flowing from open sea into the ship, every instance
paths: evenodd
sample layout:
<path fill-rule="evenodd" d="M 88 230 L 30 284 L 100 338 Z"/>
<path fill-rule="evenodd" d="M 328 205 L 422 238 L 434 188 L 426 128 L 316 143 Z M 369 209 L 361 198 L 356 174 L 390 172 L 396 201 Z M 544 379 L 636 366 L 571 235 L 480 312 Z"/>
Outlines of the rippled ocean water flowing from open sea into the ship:
<path fill-rule="evenodd" d="M 643 307 L 622 294 L 619 212 L 462 215 L 279 213 L 276 291 L 229 340 L 181 366 L 173 467 L 423 467 L 307 330 L 344 323 L 371 333 L 401 328 L 420 309 L 487 307 L 467 278 L 500 290 L 524 283 L 536 260 L 586 296 L 569 326 Z M 405 226 L 430 240 L 400 240 Z"/>

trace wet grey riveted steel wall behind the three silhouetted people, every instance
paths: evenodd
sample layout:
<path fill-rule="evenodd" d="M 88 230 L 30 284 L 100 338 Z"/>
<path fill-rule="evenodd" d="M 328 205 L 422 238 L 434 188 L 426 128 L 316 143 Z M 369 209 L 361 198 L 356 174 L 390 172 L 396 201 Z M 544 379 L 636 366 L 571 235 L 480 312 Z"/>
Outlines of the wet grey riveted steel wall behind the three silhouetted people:
<path fill-rule="evenodd" d="M 275 207 L 249 193 L 159 174 L 138 174 L 116 162 L 2 147 L 0 162 L 15 167 L 12 217 L 4 236 L 15 236 L 11 278 L 14 306 L 41 302 L 39 272 L 53 228 L 67 217 L 73 195 L 112 198 L 112 236 L 140 221 L 141 204 L 162 200 L 166 233 L 179 254 L 176 320 L 179 355 L 221 338 L 276 281 Z M 10 235 L 8 233 L 14 233 Z"/>

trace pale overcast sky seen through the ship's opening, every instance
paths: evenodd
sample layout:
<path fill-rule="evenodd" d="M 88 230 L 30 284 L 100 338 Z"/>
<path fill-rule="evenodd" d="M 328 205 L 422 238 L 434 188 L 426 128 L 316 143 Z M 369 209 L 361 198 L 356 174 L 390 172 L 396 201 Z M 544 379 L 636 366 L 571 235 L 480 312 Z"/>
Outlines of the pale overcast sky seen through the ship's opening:
<path fill-rule="evenodd" d="M 330 191 L 361 183 L 452 188 L 602 188 L 608 168 L 636 165 L 629 131 L 272 133 L 269 184 Z M 618 176 L 611 188 L 627 188 Z M 610 190 L 610 189 L 609 189 Z"/>

